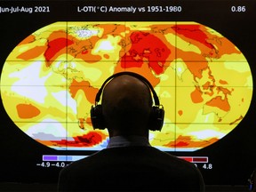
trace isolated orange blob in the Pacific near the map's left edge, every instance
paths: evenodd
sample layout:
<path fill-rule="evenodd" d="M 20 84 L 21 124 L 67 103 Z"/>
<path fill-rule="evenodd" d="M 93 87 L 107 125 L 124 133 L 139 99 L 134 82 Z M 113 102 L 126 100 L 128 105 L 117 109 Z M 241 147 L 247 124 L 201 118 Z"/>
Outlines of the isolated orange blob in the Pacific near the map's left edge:
<path fill-rule="evenodd" d="M 16 109 L 20 118 L 33 118 L 40 114 L 40 110 L 31 104 L 18 104 Z"/>

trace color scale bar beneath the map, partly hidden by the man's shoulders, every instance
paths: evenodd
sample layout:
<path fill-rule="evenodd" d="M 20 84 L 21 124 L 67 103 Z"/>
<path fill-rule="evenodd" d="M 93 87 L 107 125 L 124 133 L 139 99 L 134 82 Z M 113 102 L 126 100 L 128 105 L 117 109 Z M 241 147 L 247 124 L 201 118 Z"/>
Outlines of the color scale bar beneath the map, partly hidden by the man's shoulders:
<path fill-rule="evenodd" d="M 58 156 L 58 155 L 43 155 L 43 161 L 61 161 L 61 162 L 73 162 L 82 159 L 86 156 Z M 208 156 L 178 156 L 190 163 L 208 163 Z"/>

